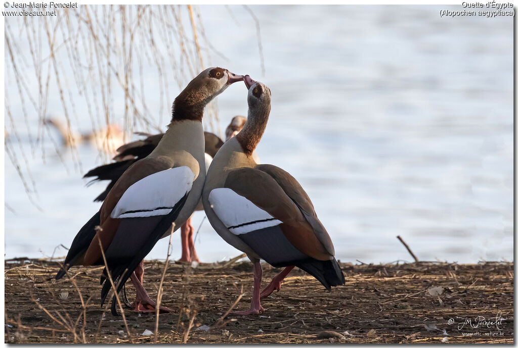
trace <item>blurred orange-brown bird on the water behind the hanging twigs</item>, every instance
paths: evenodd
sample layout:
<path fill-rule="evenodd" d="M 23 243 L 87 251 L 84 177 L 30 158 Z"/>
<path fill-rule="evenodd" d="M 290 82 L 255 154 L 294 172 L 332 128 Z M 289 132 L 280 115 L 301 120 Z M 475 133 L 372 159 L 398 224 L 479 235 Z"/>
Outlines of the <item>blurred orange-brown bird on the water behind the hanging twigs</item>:
<path fill-rule="evenodd" d="M 46 118 L 44 124 L 57 130 L 64 147 L 76 147 L 81 143 L 88 143 L 105 153 L 113 154 L 116 148 L 124 144 L 124 131 L 117 124 L 109 124 L 107 127 L 88 133 L 77 133 L 72 130 L 68 132 L 63 122 L 55 117 Z"/>

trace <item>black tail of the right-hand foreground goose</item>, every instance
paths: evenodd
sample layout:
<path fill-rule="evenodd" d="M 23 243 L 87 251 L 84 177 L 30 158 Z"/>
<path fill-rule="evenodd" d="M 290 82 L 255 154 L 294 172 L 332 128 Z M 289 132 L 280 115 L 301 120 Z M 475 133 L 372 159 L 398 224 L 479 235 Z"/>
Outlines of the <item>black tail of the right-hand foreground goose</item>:
<path fill-rule="evenodd" d="M 327 291 L 331 291 L 331 286 L 343 285 L 346 278 L 336 262 L 336 259 L 328 261 L 320 261 L 315 259 L 306 259 L 295 264 L 298 268 L 305 270 L 307 273 L 316 278 Z"/>

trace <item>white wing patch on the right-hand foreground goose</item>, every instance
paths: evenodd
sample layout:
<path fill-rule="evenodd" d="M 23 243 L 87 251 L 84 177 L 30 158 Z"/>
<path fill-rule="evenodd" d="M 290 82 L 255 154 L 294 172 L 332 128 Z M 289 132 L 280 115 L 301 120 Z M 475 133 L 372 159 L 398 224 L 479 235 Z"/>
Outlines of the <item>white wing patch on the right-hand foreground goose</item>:
<path fill-rule="evenodd" d="M 282 223 L 228 188 L 217 188 L 210 191 L 209 203 L 226 228 L 236 235 Z"/>

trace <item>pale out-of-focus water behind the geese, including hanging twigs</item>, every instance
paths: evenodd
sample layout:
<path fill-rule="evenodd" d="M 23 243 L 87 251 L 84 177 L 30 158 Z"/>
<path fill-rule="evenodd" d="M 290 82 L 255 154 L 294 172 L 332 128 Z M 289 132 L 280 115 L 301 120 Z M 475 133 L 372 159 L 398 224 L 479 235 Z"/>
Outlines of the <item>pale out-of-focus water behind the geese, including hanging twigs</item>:
<path fill-rule="evenodd" d="M 400 235 L 423 261 L 512 261 L 513 19 L 440 18 L 443 8 L 461 9 L 80 6 L 6 17 L 5 257 L 64 256 L 106 187 L 82 175 L 134 132 L 165 131 L 186 83 L 221 66 L 270 87 L 257 153 L 305 188 L 337 259 L 413 261 Z M 204 126 L 224 138 L 246 113 L 234 84 Z M 204 215 L 193 219 L 200 260 L 238 255 Z M 179 242 L 178 231 L 173 260 Z M 147 258 L 165 259 L 167 246 Z"/>

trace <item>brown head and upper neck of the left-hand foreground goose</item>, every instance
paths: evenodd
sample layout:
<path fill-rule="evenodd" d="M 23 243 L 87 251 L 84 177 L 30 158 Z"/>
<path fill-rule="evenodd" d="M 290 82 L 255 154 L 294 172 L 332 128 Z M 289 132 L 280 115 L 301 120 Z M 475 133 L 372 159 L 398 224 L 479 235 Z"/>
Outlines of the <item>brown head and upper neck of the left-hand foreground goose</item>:
<path fill-rule="evenodd" d="M 176 97 L 172 106 L 174 120 L 202 120 L 206 105 L 234 82 L 243 81 L 244 76 L 227 69 L 213 67 L 202 71 Z"/>

